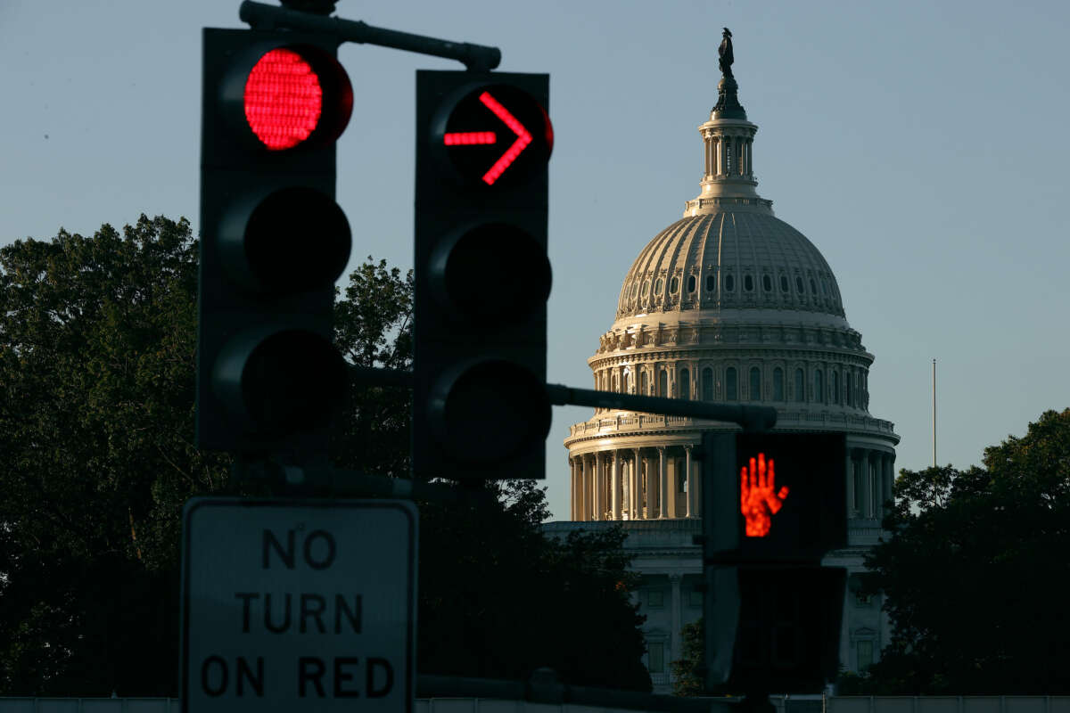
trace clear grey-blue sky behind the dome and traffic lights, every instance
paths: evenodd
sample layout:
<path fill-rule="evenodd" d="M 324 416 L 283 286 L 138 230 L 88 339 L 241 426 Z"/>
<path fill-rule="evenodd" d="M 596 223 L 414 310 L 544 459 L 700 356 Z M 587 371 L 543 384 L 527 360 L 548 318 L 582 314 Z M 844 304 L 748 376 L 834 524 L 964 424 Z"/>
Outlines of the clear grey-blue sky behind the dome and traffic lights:
<path fill-rule="evenodd" d="M 0 245 L 198 214 L 200 35 L 235 0 L 0 0 Z M 896 467 L 964 468 L 1070 406 L 1070 3 L 340 0 L 338 16 L 502 49 L 550 74 L 548 381 L 590 388 L 640 250 L 699 192 L 698 125 L 733 33 L 759 125 L 758 191 L 835 273 L 875 355 L 870 412 Z M 415 69 L 447 60 L 345 45 L 355 108 L 337 200 L 367 255 L 413 264 Z M 348 274 L 348 270 L 347 270 Z M 568 517 L 554 407 L 549 505 Z"/>

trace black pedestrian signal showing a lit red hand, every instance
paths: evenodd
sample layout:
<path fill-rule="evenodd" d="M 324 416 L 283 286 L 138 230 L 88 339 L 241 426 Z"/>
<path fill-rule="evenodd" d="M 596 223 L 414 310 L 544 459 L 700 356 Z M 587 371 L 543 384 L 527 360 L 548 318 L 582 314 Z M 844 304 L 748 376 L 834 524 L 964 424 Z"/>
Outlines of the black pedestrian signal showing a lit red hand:
<path fill-rule="evenodd" d="M 703 437 L 706 687 L 819 692 L 838 671 L 846 546 L 842 434 Z"/>

